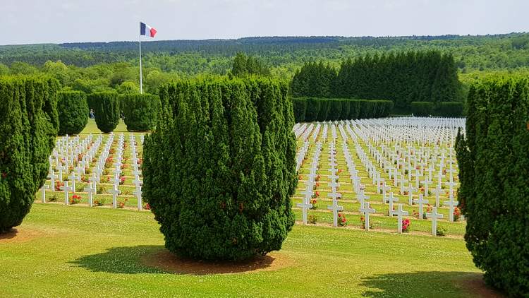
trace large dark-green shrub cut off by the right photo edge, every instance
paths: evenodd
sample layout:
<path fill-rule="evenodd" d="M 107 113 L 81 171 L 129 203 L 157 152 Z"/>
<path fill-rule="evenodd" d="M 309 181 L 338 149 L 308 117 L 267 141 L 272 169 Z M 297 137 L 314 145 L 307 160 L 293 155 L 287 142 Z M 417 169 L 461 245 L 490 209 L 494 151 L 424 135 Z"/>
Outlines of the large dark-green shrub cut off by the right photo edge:
<path fill-rule="evenodd" d="M 467 248 L 485 282 L 513 297 L 529 296 L 528 96 L 525 79 L 475 83 L 456 138 Z"/>

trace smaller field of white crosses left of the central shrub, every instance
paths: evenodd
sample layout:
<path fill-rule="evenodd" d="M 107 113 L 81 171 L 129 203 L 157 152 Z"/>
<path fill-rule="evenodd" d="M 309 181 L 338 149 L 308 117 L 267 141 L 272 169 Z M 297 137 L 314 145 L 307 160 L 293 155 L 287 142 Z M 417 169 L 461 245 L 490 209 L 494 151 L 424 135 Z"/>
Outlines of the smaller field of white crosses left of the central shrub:
<path fill-rule="evenodd" d="M 143 134 L 57 138 L 37 201 L 89 207 L 150 209 L 142 202 Z"/>

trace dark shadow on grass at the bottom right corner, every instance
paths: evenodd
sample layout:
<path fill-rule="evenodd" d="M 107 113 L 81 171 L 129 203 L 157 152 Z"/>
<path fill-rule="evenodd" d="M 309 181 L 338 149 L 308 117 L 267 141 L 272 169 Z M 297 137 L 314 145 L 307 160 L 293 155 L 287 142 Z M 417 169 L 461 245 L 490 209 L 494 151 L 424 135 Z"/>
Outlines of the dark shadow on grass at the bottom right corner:
<path fill-rule="evenodd" d="M 505 297 L 487 287 L 482 273 L 410 272 L 374 275 L 360 285 L 364 297 Z"/>

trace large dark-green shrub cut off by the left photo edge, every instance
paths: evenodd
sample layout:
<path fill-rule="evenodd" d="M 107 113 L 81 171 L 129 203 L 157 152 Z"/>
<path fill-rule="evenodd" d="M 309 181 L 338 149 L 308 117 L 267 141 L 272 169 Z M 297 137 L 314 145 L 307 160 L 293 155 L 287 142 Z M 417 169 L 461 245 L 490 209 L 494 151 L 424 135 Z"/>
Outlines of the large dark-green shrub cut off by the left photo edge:
<path fill-rule="evenodd" d="M 0 77 L 0 233 L 20 225 L 46 179 L 58 87 L 46 77 Z"/>

